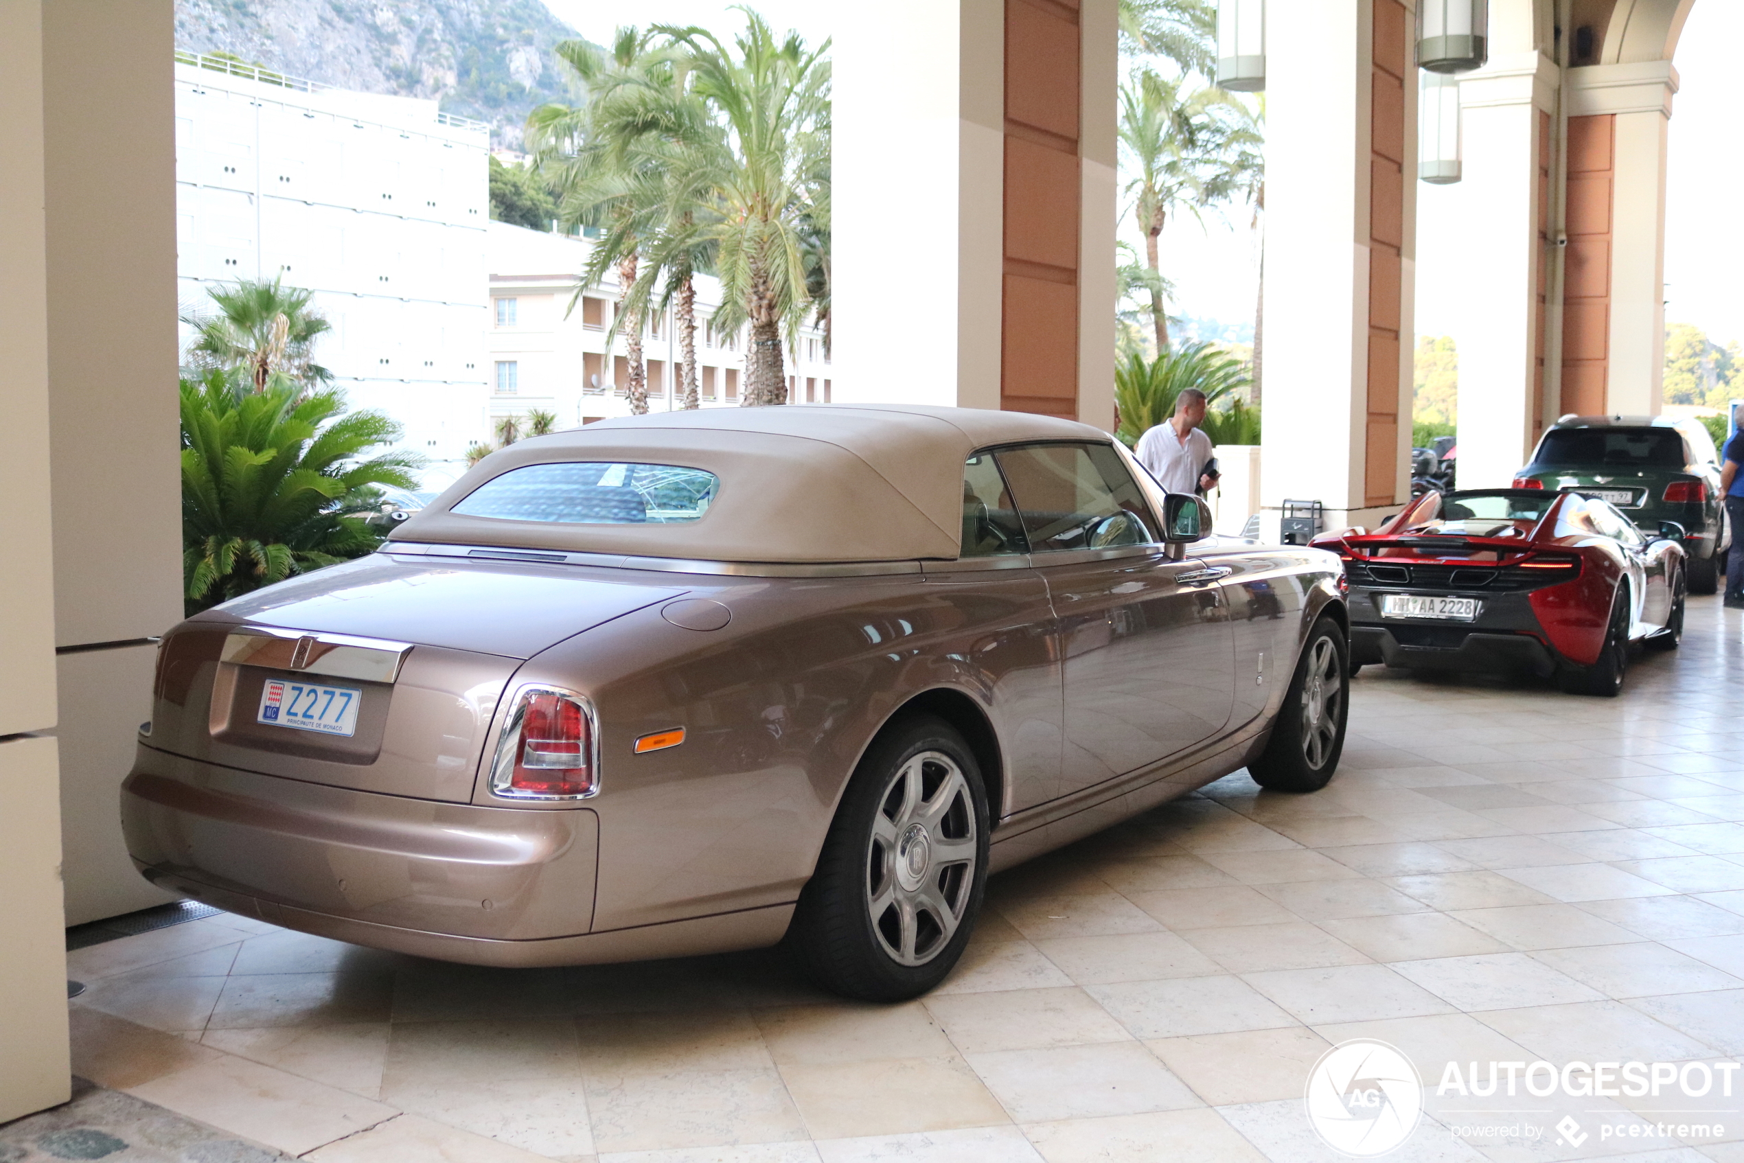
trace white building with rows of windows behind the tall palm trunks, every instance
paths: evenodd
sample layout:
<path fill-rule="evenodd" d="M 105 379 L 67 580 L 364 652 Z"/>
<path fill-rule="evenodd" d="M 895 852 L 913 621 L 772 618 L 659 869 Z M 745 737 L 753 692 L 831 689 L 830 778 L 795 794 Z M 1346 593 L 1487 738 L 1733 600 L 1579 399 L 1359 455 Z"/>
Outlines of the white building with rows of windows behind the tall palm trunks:
<path fill-rule="evenodd" d="M 588 239 L 542 234 L 502 221 L 487 228 L 490 296 L 488 371 L 490 417 L 555 411 L 558 427 L 630 415 L 624 385 L 624 342 L 607 352 L 605 335 L 617 303 L 617 282 L 588 288 L 570 312 L 570 298 L 588 265 Z M 705 408 L 738 406 L 745 377 L 745 337 L 706 333 L 705 321 L 720 303 L 715 279 L 696 279 L 698 391 Z M 830 403 L 834 378 L 823 350 L 823 331 L 807 326 L 799 350 L 785 350 L 788 403 Z M 649 370 L 649 410 L 684 406 L 678 385 L 678 337 L 671 312 L 649 321 L 642 337 Z"/>

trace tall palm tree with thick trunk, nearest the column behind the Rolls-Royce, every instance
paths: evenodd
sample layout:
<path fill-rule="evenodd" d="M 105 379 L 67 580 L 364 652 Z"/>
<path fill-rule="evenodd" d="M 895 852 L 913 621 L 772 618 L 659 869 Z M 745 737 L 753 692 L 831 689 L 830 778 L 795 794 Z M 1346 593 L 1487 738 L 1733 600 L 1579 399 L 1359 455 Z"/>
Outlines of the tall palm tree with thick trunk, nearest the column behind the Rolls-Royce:
<path fill-rule="evenodd" d="M 787 403 L 783 331 L 792 335 L 811 310 L 813 270 L 807 230 L 816 230 L 818 174 L 828 162 L 828 40 L 807 49 L 799 33 L 776 40 L 769 24 L 739 7 L 745 31 L 727 49 L 708 30 L 657 24 L 684 49 L 687 94 L 713 113 L 710 127 L 675 143 L 678 183 L 713 194 L 713 214 L 696 221 L 712 248 L 722 302 L 713 331 L 750 324 L 743 405 Z M 677 110 L 675 110 L 677 112 Z M 684 126 L 678 115 L 673 127 Z"/>

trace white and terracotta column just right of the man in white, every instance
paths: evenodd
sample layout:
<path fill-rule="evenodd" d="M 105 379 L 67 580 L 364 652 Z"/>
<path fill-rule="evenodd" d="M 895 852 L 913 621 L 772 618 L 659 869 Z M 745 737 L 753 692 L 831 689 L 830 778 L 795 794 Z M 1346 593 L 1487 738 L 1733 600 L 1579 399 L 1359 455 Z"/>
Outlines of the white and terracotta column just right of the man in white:
<path fill-rule="evenodd" d="M 1285 499 L 1327 528 L 1409 497 L 1416 234 L 1414 5 L 1266 10 L 1263 532 Z"/>

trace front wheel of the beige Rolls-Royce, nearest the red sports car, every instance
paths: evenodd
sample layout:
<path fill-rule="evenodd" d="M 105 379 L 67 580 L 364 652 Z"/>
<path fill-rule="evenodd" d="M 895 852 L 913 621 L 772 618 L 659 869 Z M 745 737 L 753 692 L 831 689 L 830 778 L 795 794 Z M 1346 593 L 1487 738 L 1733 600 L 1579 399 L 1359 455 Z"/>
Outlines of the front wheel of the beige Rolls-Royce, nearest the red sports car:
<path fill-rule="evenodd" d="M 1350 717 L 1350 647 L 1322 617 L 1308 633 L 1266 750 L 1247 765 L 1268 792 L 1318 792 L 1338 771 Z"/>

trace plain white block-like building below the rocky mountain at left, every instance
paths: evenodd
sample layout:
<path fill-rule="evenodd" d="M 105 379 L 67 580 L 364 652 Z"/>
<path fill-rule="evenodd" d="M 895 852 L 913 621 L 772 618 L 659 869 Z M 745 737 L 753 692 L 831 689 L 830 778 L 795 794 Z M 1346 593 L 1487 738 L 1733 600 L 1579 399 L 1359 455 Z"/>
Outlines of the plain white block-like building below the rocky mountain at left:
<path fill-rule="evenodd" d="M 316 361 L 445 483 L 487 436 L 488 145 L 434 101 L 178 52 L 183 314 L 235 279 L 312 289 L 333 324 Z"/>

